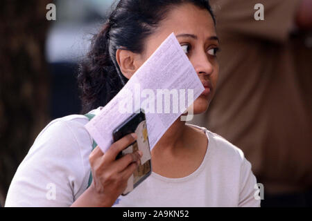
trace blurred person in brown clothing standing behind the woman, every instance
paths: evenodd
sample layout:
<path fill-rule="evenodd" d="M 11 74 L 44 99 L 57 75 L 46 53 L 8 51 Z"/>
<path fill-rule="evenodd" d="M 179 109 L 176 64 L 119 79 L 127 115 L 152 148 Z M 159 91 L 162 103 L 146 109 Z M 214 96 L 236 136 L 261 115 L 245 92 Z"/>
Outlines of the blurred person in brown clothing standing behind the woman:
<path fill-rule="evenodd" d="M 206 126 L 244 151 L 261 206 L 311 206 L 312 1 L 211 0 L 222 48 Z M 263 19 L 254 19 L 257 3 Z"/>

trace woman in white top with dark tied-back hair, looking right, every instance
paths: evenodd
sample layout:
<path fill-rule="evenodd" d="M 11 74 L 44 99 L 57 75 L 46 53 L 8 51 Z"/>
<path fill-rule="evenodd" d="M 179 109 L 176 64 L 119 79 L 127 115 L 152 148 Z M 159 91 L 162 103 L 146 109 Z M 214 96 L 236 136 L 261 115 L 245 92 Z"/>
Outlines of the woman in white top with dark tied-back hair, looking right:
<path fill-rule="evenodd" d="M 207 110 L 218 79 L 218 38 L 204 0 L 121 0 L 94 37 L 78 83 L 83 112 L 98 113 L 174 32 L 205 91 Z M 153 173 L 122 197 L 141 153 L 115 160 L 135 140 L 126 135 L 103 154 L 92 150 L 83 115 L 55 119 L 35 140 L 12 180 L 6 206 L 259 206 L 256 178 L 243 153 L 223 137 L 177 119 L 152 151 Z M 87 187 L 90 170 L 93 181 Z"/>

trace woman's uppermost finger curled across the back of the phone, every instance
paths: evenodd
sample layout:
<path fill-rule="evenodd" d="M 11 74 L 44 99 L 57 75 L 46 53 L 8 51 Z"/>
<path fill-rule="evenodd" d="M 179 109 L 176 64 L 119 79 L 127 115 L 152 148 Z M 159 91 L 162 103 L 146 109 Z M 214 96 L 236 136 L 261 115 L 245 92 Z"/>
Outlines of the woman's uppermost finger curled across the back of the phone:
<path fill-rule="evenodd" d="M 106 152 L 107 159 L 114 161 L 116 159 L 116 156 L 121 152 L 124 148 L 132 144 L 137 140 L 137 135 L 135 133 L 130 133 L 128 135 L 125 135 L 120 140 L 117 140 L 110 146 L 110 148 Z"/>

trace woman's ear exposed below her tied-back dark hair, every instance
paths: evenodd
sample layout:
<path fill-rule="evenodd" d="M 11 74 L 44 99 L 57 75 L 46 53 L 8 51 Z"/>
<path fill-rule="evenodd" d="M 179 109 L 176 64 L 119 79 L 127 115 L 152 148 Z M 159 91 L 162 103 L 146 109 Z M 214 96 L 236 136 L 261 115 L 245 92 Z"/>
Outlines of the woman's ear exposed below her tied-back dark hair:
<path fill-rule="evenodd" d="M 137 55 L 130 50 L 117 49 L 116 50 L 116 61 L 119 64 L 121 73 L 130 79 L 133 74 L 137 71 Z"/>

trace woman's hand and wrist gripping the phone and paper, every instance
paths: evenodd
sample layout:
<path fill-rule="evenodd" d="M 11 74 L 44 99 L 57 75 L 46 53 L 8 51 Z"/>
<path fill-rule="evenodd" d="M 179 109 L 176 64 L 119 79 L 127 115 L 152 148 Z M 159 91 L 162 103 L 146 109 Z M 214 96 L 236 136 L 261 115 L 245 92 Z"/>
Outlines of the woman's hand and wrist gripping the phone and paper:
<path fill-rule="evenodd" d="M 104 154 L 96 146 L 89 155 L 92 184 L 71 206 L 112 206 L 127 187 L 127 182 L 140 163 L 141 151 L 129 153 L 116 160 L 116 156 L 132 142 L 135 133 L 125 135 Z"/>

